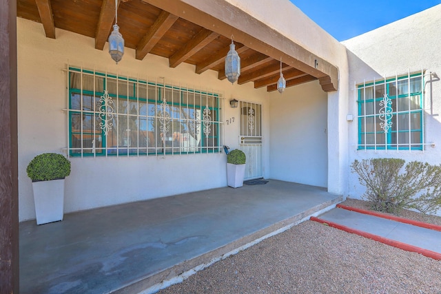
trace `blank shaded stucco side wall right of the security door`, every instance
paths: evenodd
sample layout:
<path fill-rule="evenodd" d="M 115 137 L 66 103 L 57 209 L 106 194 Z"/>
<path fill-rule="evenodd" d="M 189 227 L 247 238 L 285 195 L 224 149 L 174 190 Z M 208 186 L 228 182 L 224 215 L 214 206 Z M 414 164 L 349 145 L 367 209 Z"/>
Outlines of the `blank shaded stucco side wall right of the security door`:
<path fill-rule="evenodd" d="M 271 178 L 327 187 L 327 94 L 318 81 L 271 97 Z"/>

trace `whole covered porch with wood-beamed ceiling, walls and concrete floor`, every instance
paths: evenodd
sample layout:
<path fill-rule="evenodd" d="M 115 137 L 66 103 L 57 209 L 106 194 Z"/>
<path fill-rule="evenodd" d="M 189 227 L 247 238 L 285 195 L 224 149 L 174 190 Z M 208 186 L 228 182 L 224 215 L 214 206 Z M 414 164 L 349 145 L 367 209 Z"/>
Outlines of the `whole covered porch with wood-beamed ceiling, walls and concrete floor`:
<path fill-rule="evenodd" d="M 346 62 L 345 48 L 289 1 L 277 3 L 287 9 L 269 20 L 267 15 L 279 12 L 278 6 L 267 13 L 265 1 L 259 6 L 227 0 L 116 1 L 126 42 L 124 58 L 116 65 L 106 43 L 115 21 L 114 0 L 1 2 L 2 290 L 18 293 L 20 285 L 21 293 L 141 291 L 342 200 L 332 193 L 344 193 L 345 161 L 338 152 L 344 145 L 329 144 L 328 138 L 340 136 L 338 114 L 345 107 L 337 92 L 338 62 L 330 60 L 336 49 Z M 303 34 L 303 27 L 311 33 Z M 232 41 L 241 58 L 241 75 L 234 84 L 224 71 Z M 81 81 L 92 75 L 93 87 L 71 83 L 77 74 L 72 71 L 80 72 Z M 281 74 L 287 87 L 283 96 L 276 86 Z M 202 98 L 192 103 L 195 125 L 207 129 L 205 145 L 167 156 L 159 143 L 145 156 L 97 153 L 96 145 L 100 148 L 113 136 L 91 119 L 99 104 L 90 103 L 88 109 L 83 98 L 102 97 L 104 88 L 97 85 L 104 80 L 96 82 L 96 77 L 103 75 L 116 81 L 111 94 L 120 105 L 150 103 L 154 109 L 167 109 L 169 103 L 182 112 L 189 108 L 183 98 L 187 92 L 216 97 L 210 105 Z M 145 97 L 130 94 L 141 84 L 149 85 L 142 87 Z M 148 96 L 150 86 L 154 89 Z M 171 97 L 161 98 L 161 91 L 170 89 Z M 72 103 L 75 93 L 83 103 L 79 107 Z M 242 107 L 230 107 L 233 100 Z M 259 109 L 259 115 L 247 105 Z M 128 108 L 120 108 L 114 119 L 128 122 Z M 204 109 L 211 109 L 212 117 L 198 117 Z M 115 132 L 127 136 L 108 146 L 130 150 L 133 144 L 140 149 L 150 140 L 148 132 L 161 135 L 156 127 L 141 126 L 141 118 L 161 121 L 159 112 L 144 114 L 141 107 L 131 111 L 138 125 L 114 125 Z M 88 125 L 92 120 L 93 126 Z M 176 129 L 190 129 L 188 121 L 184 127 L 172 121 L 167 140 Z M 255 125 L 261 132 L 249 162 L 256 163 L 256 178 L 274 180 L 264 186 L 225 188 L 222 147 L 244 149 L 243 134 L 256 133 Z M 129 132 L 138 132 L 143 140 L 134 143 Z M 308 138 L 307 144 L 299 138 Z M 209 151 L 202 152 L 203 147 Z M 66 179 L 65 220 L 37 227 L 32 182 L 25 170 L 34 156 L 45 152 L 70 157 L 72 174 Z M 328 166 L 338 172 L 329 172 Z"/>

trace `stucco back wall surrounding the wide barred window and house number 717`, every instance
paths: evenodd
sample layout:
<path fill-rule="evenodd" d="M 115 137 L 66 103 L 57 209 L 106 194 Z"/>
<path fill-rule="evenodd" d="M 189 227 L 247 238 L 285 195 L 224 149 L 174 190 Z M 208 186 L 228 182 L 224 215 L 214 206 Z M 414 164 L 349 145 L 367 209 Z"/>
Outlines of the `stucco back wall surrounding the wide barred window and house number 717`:
<path fill-rule="evenodd" d="M 168 60 L 148 54 L 143 61 L 134 58 L 134 50 L 125 49 L 123 60 L 115 65 L 107 47 L 94 49 L 94 39 L 58 30 L 57 39 L 45 37 L 40 23 L 17 19 L 18 103 L 19 103 L 19 220 L 35 217 L 32 184 L 25 168 L 34 156 L 43 152 L 65 154 L 68 146 L 67 65 L 100 72 L 129 76 L 165 77 L 165 83 L 181 84 L 220 92 L 225 97 L 223 119 L 239 116 L 229 107 L 236 98 L 262 103 L 263 133 L 269 134 L 269 107 L 266 89 L 255 90 L 252 83 L 238 86 L 217 72 L 194 73 L 194 65 L 168 66 Z M 224 101 L 222 101 L 224 103 Z M 223 143 L 238 147 L 238 119 L 223 125 Z M 132 202 L 176 193 L 225 187 L 226 156 L 196 154 L 71 158 L 72 174 L 66 178 L 65 212 Z M 268 166 L 268 144 L 263 145 L 263 166 Z M 265 177 L 268 177 L 265 175 Z"/>

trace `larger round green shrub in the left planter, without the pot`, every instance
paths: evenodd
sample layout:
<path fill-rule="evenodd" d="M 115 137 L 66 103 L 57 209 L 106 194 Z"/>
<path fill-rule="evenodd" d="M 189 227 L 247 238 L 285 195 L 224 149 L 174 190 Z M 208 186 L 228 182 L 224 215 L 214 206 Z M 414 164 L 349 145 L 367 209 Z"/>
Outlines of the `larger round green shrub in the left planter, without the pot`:
<path fill-rule="evenodd" d="M 32 182 L 57 180 L 70 175 L 70 161 L 61 154 L 40 154 L 29 162 L 26 172 Z"/>

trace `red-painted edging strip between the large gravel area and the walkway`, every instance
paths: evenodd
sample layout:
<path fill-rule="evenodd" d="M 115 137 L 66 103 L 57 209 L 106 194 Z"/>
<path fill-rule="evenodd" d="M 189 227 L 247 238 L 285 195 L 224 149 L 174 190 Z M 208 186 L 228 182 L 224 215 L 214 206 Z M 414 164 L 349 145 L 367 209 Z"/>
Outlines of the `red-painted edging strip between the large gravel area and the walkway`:
<path fill-rule="evenodd" d="M 362 237 L 365 238 L 369 238 L 372 239 L 374 241 L 378 241 L 378 242 L 382 242 L 384 244 L 387 244 L 389 246 L 394 246 L 397 247 L 399 249 L 405 250 L 405 251 L 411 251 L 411 252 L 416 252 L 416 253 L 420 253 L 424 256 L 427 256 L 428 258 L 433 258 L 434 260 L 441 260 L 441 253 L 438 252 L 434 252 L 431 250 L 427 250 L 427 249 L 423 249 L 417 246 L 413 246 L 410 244 L 406 244 L 406 243 L 402 243 L 396 240 L 391 240 L 388 238 L 384 238 L 381 237 L 379 235 L 374 235 L 371 233 L 367 233 L 365 231 L 360 231 L 357 229 L 352 229 L 346 226 L 343 226 L 341 224 L 337 224 L 336 222 L 329 222 L 328 220 L 321 220 L 320 218 L 316 218 L 314 216 L 311 216 L 310 220 L 313 220 L 314 222 L 320 222 L 322 224 L 327 224 L 329 225 L 329 227 L 334 227 L 336 229 L 340 229 L 342 231 L 347 231 L 348 233 L 355 233 L 357 235 L 360 235 Z"/>

